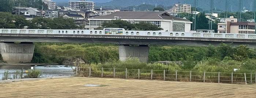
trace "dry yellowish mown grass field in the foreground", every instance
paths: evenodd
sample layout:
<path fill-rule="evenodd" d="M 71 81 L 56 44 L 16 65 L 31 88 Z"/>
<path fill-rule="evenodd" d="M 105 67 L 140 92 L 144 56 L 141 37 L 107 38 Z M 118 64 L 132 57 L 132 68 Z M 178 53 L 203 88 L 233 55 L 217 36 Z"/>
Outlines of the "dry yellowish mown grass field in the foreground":
<path fill-rule="evenodd" d="M 0 98 L 255 98 L 255 95 L 256 85 L 244 84 L 81 77 L 0 83 Z"/>

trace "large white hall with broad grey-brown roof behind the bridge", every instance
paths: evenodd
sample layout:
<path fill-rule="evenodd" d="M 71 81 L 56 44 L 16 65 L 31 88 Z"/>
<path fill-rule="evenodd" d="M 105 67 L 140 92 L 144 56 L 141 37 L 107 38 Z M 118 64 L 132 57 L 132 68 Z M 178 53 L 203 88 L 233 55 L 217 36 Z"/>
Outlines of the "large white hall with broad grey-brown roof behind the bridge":
<path fill-rule="evenodd" d="M 117 11 L 110 15 L 88 18 L 89 25 L 85 28 L 95 29 L 100 27 L 104 21 L 111 21 L 116 18 L 131 23 L 152 23 L 161 27 L 164 31 L 190 32 L 190 25 L 192 24 L 187 19 L 171 16 L 165 11 Z"/>

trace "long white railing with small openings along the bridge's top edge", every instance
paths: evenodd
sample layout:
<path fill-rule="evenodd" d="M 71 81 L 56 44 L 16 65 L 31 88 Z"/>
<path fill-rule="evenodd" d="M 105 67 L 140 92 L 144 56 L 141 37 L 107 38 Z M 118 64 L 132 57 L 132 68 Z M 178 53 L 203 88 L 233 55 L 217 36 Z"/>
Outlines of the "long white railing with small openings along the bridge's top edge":
<path fill-rule="evenodd" d="M 193 38 L 235 38 L 256 39 L 256 34 L 235 33 L 189 33 L 167 31 L 128 31 L 109 34 L 103 30 L 52 30 L 52 29 L 0 29 L 0 34 L 59 34 L 59 35 L 127 35 L 127 36 L 156 36 L 156 37 L 193 37 Z"/>

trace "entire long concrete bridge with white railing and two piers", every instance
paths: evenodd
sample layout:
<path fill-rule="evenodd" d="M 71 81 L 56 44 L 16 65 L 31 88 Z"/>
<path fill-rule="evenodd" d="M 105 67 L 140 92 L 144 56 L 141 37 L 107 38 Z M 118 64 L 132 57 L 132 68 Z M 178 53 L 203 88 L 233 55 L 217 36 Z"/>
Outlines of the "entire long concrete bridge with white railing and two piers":
<path fill-rule="evenodd" d="M 208 46 L 219 43 L 248 44 L 256 47 L 256 34 L 189 33 L 167 31 L 104 30 L 42 30 L 0 29 L 0 53 L 8 63 L 27 63 L 32 60 L 33 42 L 106 43 L 119 44 L 119 59 L 138 57 L 148 61 L 148 45 Z M 14 42 L 21 42 L 14 44 Z"/>

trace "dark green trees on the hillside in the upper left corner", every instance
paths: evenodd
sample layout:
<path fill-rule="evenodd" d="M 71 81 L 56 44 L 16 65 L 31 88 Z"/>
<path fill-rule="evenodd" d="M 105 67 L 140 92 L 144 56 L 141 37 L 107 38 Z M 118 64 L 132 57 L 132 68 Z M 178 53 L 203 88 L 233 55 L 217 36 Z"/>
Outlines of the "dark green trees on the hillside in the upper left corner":
<path fill-rule="evenodd" d="M 32 7 L 38 10 L 48 10 L 42 0 L 0 0 L 0 12 L 12 12 L 12 7 Z"/>

